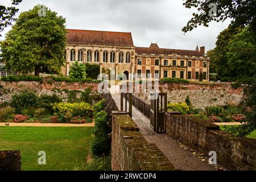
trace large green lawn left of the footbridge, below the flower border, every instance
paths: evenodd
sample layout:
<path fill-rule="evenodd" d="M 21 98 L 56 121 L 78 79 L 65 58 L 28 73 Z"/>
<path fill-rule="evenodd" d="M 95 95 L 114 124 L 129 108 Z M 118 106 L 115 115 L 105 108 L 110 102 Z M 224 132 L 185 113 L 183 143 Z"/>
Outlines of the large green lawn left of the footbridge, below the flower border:
<path fill-rule="evenodd" d="M 92 127 L 0 126 L 0 150 L 19 150 L 22 170 L 73 170 L 86 162 Z M 38 152 L 46 152 L 46 165 Z"/>

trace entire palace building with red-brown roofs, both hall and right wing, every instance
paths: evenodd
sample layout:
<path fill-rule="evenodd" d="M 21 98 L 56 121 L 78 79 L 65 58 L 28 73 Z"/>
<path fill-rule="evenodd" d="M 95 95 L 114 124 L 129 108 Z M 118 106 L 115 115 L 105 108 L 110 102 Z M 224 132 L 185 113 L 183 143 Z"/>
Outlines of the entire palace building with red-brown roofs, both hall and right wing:
<path fill-rule="evenodd" d="M 102 69 L 119 73 L 151 74 L 152 78 L 177 77 L 209 81 L 209 58 L 205 47 L 195 50 L 159 48 L 151 43 L 150 47 L 135 47 L 130 32 L 109 32 L 92 30 L 67 30 L 65 49 L 66 66 L 63 75 L 68 76 L 69 68 L 75 61 L 99 64 Z"/>

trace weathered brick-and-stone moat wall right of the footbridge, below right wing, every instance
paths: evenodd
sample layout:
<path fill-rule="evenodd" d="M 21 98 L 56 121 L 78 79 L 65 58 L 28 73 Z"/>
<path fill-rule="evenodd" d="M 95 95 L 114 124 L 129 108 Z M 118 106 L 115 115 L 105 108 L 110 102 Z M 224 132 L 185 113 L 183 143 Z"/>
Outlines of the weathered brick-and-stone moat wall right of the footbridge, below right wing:
<path fill-rule="evenodd" d="M 168 95 L 168 102 L 184 102 L 189 96 L 192 105 L 204 109 L 210 105 L 225 105 L 228 102 L 239 104 L 243 98 L 243 88 L 233 89 L 230 84 L 175 84 L 160 83 L 159 89 Z M 148 100 L 148 94 L 137 94 L 143 100 Z"/>

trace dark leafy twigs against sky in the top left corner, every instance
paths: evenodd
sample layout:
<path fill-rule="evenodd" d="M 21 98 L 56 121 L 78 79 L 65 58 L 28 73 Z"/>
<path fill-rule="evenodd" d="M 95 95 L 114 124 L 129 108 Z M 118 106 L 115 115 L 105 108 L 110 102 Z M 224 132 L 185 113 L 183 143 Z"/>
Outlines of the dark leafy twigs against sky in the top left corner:
<path fill-rule="evenodd" d="M 11 0 L 11 2 L 12 5 L 19 5 L 22 0 Z M 19 9 L 16 9 L 15 6 L 5 7 L 0 5 L 0 32 L 2 32 L 5 27 L 10 26 L 11 23 L 14 22 L 14 16 L 18 11 Z"/>

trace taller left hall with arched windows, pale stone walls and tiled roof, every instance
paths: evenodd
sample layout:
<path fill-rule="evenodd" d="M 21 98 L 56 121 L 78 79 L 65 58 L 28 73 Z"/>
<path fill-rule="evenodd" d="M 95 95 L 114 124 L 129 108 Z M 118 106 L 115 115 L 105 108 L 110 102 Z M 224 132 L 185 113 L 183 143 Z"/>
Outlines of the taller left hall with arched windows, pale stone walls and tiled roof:
<path fill-rule="evenodd" d="M 115 77 L 120 73 L 134 73 L 135 46 L 130 33 L 68 30 L 67 38 L 63 75 L 68 76 L 75 61 L 98 64 L 101 72 L 103 68 L 110 69 Z"/>

